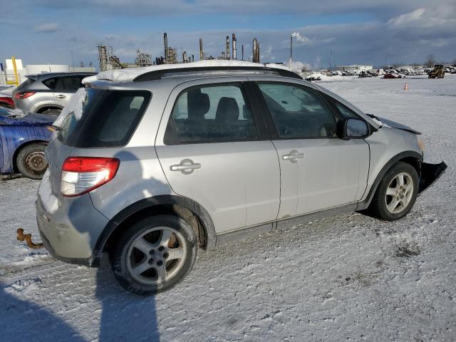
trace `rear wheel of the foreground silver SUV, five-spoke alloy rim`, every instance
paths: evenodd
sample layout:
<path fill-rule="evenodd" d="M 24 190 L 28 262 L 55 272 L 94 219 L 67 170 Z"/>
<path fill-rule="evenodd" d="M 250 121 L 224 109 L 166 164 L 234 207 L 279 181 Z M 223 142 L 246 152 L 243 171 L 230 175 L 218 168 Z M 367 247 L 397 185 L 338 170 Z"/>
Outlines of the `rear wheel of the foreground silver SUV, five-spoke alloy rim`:
<path fill-rule="evenodd" d="M 112 261 L 115 278 L 124 289 L 147 296 L 171 289 L 192 269 L 197 237 L 182 218 L 147 217 L 118 240 Z"/>

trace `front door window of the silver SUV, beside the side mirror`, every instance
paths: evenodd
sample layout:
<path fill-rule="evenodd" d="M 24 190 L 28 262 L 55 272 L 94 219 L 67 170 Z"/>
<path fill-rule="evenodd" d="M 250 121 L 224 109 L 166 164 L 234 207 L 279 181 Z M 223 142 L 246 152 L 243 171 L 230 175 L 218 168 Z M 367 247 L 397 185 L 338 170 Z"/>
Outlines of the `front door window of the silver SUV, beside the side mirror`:
<path fill-rule="evenodd" d="M 279 138 L 332 138 L 336 121 L 313 90 L 284 83 L 258 83 Z"/>

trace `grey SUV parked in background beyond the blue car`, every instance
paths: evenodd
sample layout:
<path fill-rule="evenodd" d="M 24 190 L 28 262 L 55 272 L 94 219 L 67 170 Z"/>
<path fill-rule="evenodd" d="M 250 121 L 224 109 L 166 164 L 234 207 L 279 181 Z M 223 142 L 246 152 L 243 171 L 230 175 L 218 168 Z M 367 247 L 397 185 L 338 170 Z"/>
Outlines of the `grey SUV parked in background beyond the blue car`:
<path fill-rule="evenodd" d="M 16 108 L 29 113 L 58 115 L 73 93 L 83 87 L 83 78 L 95 73 L 38 73 L 27 75 L 13 92 Z"/>

